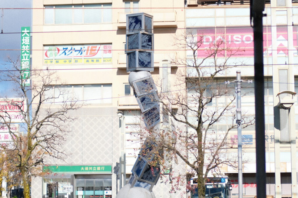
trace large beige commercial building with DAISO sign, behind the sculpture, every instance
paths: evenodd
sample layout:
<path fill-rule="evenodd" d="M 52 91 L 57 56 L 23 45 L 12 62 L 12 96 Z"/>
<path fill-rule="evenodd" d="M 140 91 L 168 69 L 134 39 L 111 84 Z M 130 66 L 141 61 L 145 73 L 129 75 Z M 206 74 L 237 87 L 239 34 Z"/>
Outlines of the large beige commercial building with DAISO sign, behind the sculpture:
<path fill-rule="evenodd" d="M 253 29 L 249 6 L 246 0 L 33 0 L 32 68 L 56 71 L 61 83 L 68 85 L 57 85 L 57 88 L 76 95 L 83 106 L 74 112 L 77 118 L 71 126 L 74 130 L 65 143 L 69 158 L 65 162 L 49 164 L 57 174 L 32 181 L 32 197 L 46 197 L 49 194 L 47 184 L 55 181 L 60 183 L 59 196 L 67 196 L 63 186 L 73 185 L 69 197 L 116 197 L 125 180 L 122 178 L 119 183 L 119 175 L 124 171 L 123 167 L 119 171 L 123 151 L 125 174 L 129 177 L 136 160 L 135 148 L 139 147 L 133 134 L 136 132 L 135 116 L 140 115 L 140 111 L 126 72 L 126 14 L 145 12 L 153 15 L 155 69 L 151 74 L 156 84 L 165 76 L 169 85 L 175 80 L 175 74 L 183 69 L 172 61 L 177 56 L 191 59 L 189 51 L 173 46 L 174 36 L 186 30 L 205 34 L 206 43 L 223 36 L 234 47 L 245 49 L 245 53 L 233 57 L 230 63 L 244 64 L 218 76 L 218 83 L 223 83 L 235 80 L 236 70 L 241 70 L 244 78 L 253 80 Z M 294 177 L 298 156 L 297 100 L 288 111 L 288 128 L 282 130 L 276 96 L 284 90 L 298 91 L 298 2 L 266 1 L 264 13 L 267 14 L 263 19 L 266 194 L 295 197 L 296 193 L 297 197 L 297 177 Z M 247 93 L 242 98 L 242 112 L 253 116 L 253 84 L 243 84 L 242 91 Z M 211 106 L 218 105 L 221 105 L 219 101 Z M 119 122 L 118 111 L 125 116 L 124 126 Z M 229 122 L 226 116 L 216 125 L 216 131 L 226 129 Z M 121 127 L 125 129 L 121 131 Z M 254 197 L 255 145 L 258 143 L 254 126 L 243 129 L 242 134 L 243 159 L 248 159 L 243 164 L 243 197 Z M 231 131 L 228 141 L 235 141 L 236 135 L 236 130 Z M 228 155 L 237 154 L 235 148 L 230 149 Z M 181 169 L 183 164 L 173 167 L 184 170 Z M 223 166 L 222 172 L 231 178 L 232 197 L 238 197 L 238 170 Z M 163 185 L 164 181 L 160 179 L 153 188 L 156 197 L 181 196 L 180 192 L 169 194 L 169 184 Z"/>

